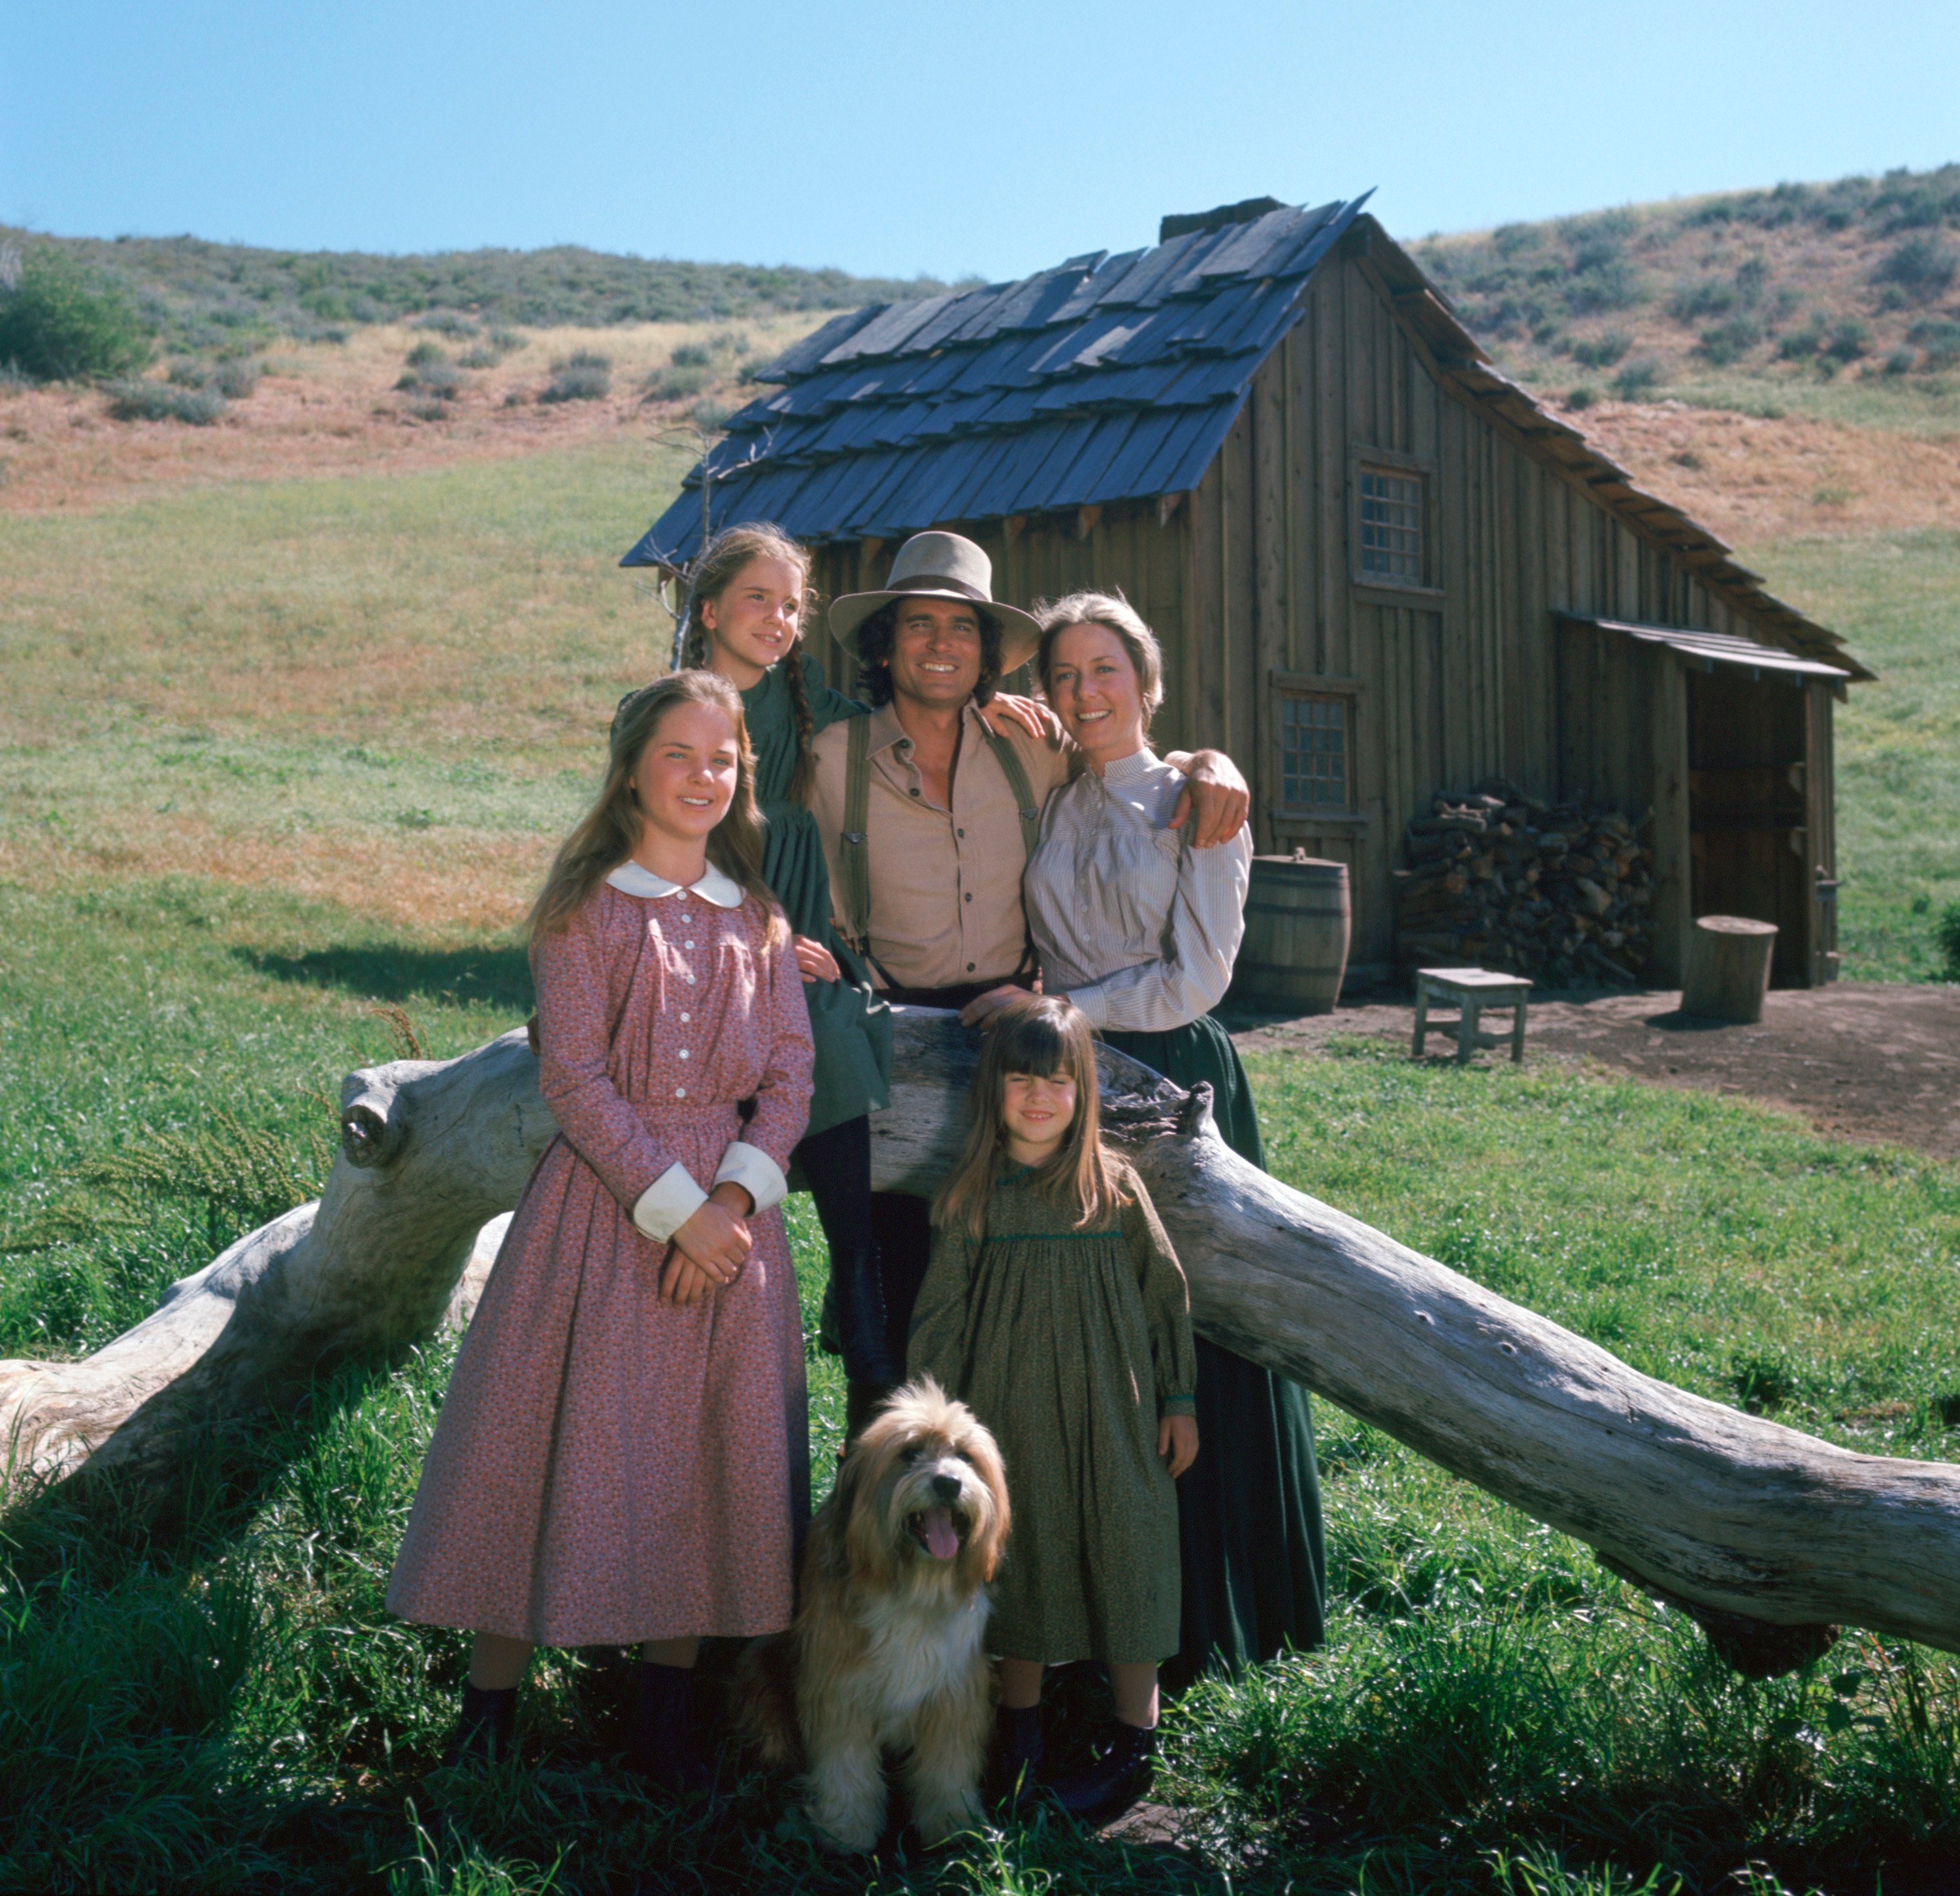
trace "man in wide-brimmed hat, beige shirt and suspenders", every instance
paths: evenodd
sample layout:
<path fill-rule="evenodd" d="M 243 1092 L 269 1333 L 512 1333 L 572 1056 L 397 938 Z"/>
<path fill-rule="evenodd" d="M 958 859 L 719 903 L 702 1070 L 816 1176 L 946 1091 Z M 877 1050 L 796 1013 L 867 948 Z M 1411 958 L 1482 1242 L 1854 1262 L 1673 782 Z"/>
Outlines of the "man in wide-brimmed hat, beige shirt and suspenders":
<path fill-rule="evenodd" d="M 994 600 L 994 565 L 958 533 L 915 533 L 882 592 L 855 592 L 829 612 L 855 637 L 872 712 L 815 739 L 809 806 L 829 859 L 839 925 L 870 961 L 888 998 L 964 1008 L 1035 974 L 1021 873 L 1041 806 L 1068 780 L 1068 739 L 1035 720 L 982 716 L 1004 674 L 1033 657 L 1041 627 Z M 1229 841 L 1249 794 L 1217 751 L 1170 755 L 1190 790 L 1172 827 L 1196 812 L 1198 847 Z M 906 1359 L 911 1306 L 931 1255 L 923 1198 L 880 1192 L 880 1274 L 894 1361 Z M 851 1390 L 853 1425 L 884 1390 Z"/>

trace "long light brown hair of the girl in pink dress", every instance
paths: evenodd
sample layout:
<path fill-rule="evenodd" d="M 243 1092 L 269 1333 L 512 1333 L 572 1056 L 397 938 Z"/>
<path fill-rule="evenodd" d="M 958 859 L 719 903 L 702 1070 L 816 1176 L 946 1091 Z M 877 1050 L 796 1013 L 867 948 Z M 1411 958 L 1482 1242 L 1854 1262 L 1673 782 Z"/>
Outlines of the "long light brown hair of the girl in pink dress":
<path fill-rule="evenodd" d="M 525 916 L 533 939 L 564 927 L 586 896 L 639 849 L 643 823 L 639 798 L 633 794 L 633 773 L 639 769 L 641 753 L 659 735 L 661 720 L 676 704 L 711 704 L 735 725 L 735 800 L 708 837 L 708 861 L 768 912 L 770 947 L 788 939 L 790 925 L 762 880 L 762 814 L 755 806 L 755 751 L 749 749 L 741 694 L 711 671 L 668 673 L 619 702 L 606 757 L 606 782 L 572 833 L 559 843 L 545 886 Z"/>

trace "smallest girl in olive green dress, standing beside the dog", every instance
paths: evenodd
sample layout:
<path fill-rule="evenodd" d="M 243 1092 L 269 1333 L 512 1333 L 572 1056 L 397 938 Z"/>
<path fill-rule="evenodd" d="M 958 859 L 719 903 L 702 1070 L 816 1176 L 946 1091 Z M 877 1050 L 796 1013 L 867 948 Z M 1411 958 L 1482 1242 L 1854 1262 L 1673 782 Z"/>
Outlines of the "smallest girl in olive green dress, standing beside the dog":
<path fill-rule="evenodd" d="M 1096 1045 L 1062 996 L 988 1025 L 972 1127 L 933 1206 L 907 1372 L 994 1431 L 1013 1539 L 994 1586 L 996 1769 L 1041 1761 L 1041 1674 L 1100 1659 L 1117 1727 L 1053 1786 L 1107 1820 L 1151 1784 L 1156 1667 L 1178 1651 L 1178 1496 L 1198 1455 L 1190 1296 L 1143 1180 L 1100 1137 Z"/>

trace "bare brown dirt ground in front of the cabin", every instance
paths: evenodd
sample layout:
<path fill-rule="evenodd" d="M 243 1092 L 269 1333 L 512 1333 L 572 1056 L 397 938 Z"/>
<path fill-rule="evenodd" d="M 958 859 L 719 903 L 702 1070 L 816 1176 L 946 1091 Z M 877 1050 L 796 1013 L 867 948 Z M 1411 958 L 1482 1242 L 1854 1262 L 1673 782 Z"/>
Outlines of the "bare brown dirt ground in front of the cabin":
<path fill-rule="evenodd" d="M 1656 1086 L 1746 1094 L 1801 1112 L 1819 1131 L 1960 1159 L 1960 986 L 1793 988 L 1772 994 L 1754 1027 L 1688 1020 L 1678 1002 L 1664 992 L 1539 1000 L 1525 1059 L 1590 1055 Z M 1413 1022 L 1405 1002 L 1366 1002 L 1235 1039 L 1247 1053 L 1311 1051 L 1329 1033 L 1409 1045 Z M 1431 1037 L 1429 1055 L 1454 1059 L 1454 1045 Z"/>

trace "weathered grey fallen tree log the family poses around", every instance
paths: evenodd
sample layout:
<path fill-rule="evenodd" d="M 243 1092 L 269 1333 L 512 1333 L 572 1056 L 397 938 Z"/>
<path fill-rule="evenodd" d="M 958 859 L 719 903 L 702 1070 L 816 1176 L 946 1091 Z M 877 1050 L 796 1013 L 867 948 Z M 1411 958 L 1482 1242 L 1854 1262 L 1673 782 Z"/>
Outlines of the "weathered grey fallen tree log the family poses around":
<path fill-rule="evenodd" d="M 958 1143 L 972 1037 L 898 1010 L 874 1122 L 884 1190 L 931 1190 Z M 1960 1467 L 1856 1455 L 1642 1376 L 1239 1159 L 1184 1094 L 1100 1051 L 1103 1123 L 1149 1182 L 1198 1327 L 1597 1549 L 1703 1616 L 1746 1671 L 1837 1622 L 1960 1651 Z M 241 1239 L 80 1363 L 0 1363 L 16 1476 L 161 1472 L 186 1431 L 290 1400 L 349 1355 L 466 1314 L 484 1225 L 553 1122 L 521 1033 L 343 1086 L 318 1206 Z M 474 1267 L 472 1267 L 474 1247 Z"/>

